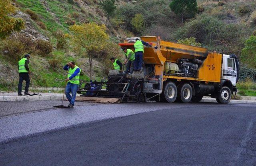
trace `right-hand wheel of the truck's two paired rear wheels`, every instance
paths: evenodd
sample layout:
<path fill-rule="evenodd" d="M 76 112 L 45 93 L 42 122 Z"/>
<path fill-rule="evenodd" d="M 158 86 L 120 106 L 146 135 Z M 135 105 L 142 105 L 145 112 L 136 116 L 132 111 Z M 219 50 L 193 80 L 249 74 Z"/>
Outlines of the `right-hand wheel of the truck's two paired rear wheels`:
<path fill-rule="evenodd" d="M 180 102 L 188 103 L 192 98 L 192 87 L 190 84 L 181 84 L 178 87 L 178 100 Z"/>

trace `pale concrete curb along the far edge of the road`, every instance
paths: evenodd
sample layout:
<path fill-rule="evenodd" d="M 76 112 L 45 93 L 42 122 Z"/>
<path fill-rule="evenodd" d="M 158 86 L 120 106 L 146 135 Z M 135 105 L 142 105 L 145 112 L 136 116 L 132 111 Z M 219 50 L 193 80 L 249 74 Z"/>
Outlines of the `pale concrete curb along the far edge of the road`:
<path fill-rule="evenodd" d="M 0 102 L 62 100 L 62 96 L 0 96 Z M 64 97 L 66 100 L 66 96 Z M 214 98 L 203 98 L 201 102 L 217 103 Z M 230 100 L 230 103 L 256 104 L 256 100 Z"/>

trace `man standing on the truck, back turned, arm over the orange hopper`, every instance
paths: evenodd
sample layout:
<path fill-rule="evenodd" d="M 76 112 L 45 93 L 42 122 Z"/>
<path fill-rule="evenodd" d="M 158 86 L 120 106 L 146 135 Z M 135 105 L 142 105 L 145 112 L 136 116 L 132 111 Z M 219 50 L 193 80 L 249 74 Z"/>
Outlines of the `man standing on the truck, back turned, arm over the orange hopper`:
<path fill-rule="evenodd" d="M 143 61 L 143 52 L 144 47 L 148 46 L 149 44 L 136 38 L 136 42 L 134 43 L 134 52 L 135 52 L 135 61 L 134 61 L 134 71 L 142 71 L 142 61 Z"/>

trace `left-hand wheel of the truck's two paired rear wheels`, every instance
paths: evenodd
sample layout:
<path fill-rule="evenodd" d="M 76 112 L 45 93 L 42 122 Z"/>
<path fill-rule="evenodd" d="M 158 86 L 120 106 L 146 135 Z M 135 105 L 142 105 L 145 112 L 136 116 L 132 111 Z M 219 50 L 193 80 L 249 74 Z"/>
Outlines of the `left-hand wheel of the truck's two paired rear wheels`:
<path fill-rule="evenodd" d="M 173 82 L 167 82 L 164 85 L 162 94 L 160 94 L 161 102 L 174 102 L 177 98 L 177 86 Z"/>

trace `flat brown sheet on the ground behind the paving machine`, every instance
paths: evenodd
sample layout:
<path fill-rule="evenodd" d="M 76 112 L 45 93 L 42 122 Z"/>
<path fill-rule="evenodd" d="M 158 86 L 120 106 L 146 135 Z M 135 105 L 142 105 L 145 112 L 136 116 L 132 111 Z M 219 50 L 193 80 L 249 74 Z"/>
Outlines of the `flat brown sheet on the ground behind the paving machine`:
<path fill-rule="evenodd" d="M 120 98 L 100 98 L 100 97 L 89 97 L 89 96 L 76 96 L 76 101 L 79 102 L 93 102 L 93 103 L 120 103 Z"/>

